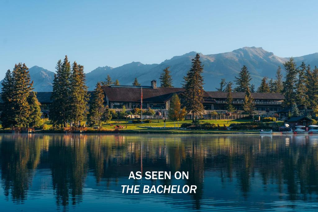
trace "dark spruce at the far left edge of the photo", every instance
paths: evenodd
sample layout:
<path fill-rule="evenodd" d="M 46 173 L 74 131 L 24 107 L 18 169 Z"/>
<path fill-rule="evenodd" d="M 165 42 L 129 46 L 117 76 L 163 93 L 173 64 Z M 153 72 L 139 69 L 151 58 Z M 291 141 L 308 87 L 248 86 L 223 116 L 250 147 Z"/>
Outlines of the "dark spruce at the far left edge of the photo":
<path fill-rule="evenodd" d="M 1 83 L 2 90 L 1 90 L 1 126 L 2 128 L 13 127 L 15 125 L 14 120 L 14 111 L 13 111 L 13 79 L 12 73 L 8 70 L 5 73 L 5 77 Z"/>

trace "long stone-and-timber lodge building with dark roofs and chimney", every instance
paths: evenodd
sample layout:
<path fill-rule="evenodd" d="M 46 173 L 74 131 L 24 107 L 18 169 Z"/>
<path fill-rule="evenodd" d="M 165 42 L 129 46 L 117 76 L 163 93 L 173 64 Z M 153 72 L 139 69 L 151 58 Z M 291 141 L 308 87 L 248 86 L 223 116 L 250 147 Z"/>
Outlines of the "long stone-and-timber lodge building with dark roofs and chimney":
<path fill-rule="evenodd" d="M 174 93 L 178 94 L 181 101 L 184 92 L 184 88 L 164 88 L 157 87 L 156 81 L 152 80 L 150 86 L 134 86 L 134 85 L 110 85 L 102 86 L 105 99 L 104 104 L 108 105 L 111 109 L 121 109 L 123 106 L 127 110 L 140 108 L 141 104 L 141 88 L 143 96 L 143 109 L 154 109 L 154 110 L 168 110 L 170 106 L 170 100 Z M 89 91 L 91 99 L 93 91 Z M 272 113 L 282 109 L 282 102 L 284 96 L 280 93 L 251 93 L 254 103 L 255 110 L 265 113 L 268 108 Z M 41 110 L 44 113 L 48 113 L 50 109 L 51 92 L 38 92 L 37 97 L 41 103 Z M 243 102 L 245 93 L 244 92 L 233 92 L 233 106 L 237 111 L 243 111 Z M 215 91 L 204 91 L 203 106 L 207 111 L 226 110 L 226 98 L 227 92 L 215 92 Z"/>

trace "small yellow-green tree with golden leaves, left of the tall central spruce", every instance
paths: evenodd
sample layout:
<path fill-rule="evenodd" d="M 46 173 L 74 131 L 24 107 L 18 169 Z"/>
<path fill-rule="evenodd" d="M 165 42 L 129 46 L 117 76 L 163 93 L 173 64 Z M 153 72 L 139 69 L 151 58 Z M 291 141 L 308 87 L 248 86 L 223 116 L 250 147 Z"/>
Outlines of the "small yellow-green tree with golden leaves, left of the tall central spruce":
<path fill-rule="evenodd" d="M 168 117 L 170 120 L 175 122 L 176 127 L 176 121 L 178 122 L 178 128 L 179 128 L 179 121 L 184 120 L 184 117 L 186 115 L 185 107 L 181 109 L 181 103 L 178 95 L 175 93 L 172 96 L 172 99 L 170 100 L 170 107 L 168 111 Z"/>

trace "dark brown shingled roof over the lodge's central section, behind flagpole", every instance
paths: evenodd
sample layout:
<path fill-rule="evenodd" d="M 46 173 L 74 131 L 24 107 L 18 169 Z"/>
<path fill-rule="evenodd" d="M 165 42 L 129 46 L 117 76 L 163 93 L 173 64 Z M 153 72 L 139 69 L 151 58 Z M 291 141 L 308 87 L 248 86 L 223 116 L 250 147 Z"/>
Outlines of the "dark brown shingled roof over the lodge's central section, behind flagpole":
<path fill-rule="evenodd" d="M 103 90 L 106 93 L 109 101 L 113 102 L 139 102 L 141 100 L 140 88 L 126 88 L 126 87 L 113 87 L 103 85 Z M 144 102 L 166 102 L 172 98 L 174 93 L 181 93 L 184 88 L 163 88 L 156 89 L 143 89 L 142 97 Z M 215 100 L 204 92 L 204 103 L 213 103 Z"/>

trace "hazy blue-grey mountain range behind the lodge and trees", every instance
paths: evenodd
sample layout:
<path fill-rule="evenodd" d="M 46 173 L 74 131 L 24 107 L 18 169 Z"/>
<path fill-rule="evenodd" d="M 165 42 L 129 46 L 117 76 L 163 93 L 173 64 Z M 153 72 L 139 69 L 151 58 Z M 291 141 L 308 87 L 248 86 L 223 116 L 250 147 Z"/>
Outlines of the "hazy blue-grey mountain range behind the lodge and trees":
<path fill-rule="evenodd" d="M 93 90 L 98 81 L 102 81 L 111 76 L 113 80 L 118 79 L 121 85 L 132 85 L 135 78 L 142 85 L 150 85 L 150 81 L 155 79 L 160 85 L 159 76 L 162 70 L 170 67 L 173 85 L 181 87 L 183 76 L 191 66 L 191 59 L 197 54 L 191 51 L 181 56 L 174 56 L 166 59 L 160 64 L 142 64 L 140 62 L 132 62 L 116 68 L 109 66 L 98 67 L 93 71 L 86 73 L 86 84 L 89 90 Z M 226 81 L 233 81 L 243 65 L 246 65 L 252 77 L 252 84 L 256 88 L 259 86 L 261 79 L 266 76 L 269 79 L 275 78 L 278 66 L 282 66 L 289 58 L 281 58 L 272 52 L 265 51 L 261 47 L 244 47 L 231 52 L 203 55 L 200 59 L 204 65 L 204 90 L 214 91 L 218 87 L 222 78 Z M 312 67 L 318 65 L 318 53 L 295 57 L 294 61 L 297 65 L 305 62 Z M 48 71 L 42 67 L 33 66 L 29 69 L 31 79 L 34 81 L 34 90 L 38 92 L 52 91 L 52 82 L 54 72 Z"/>

